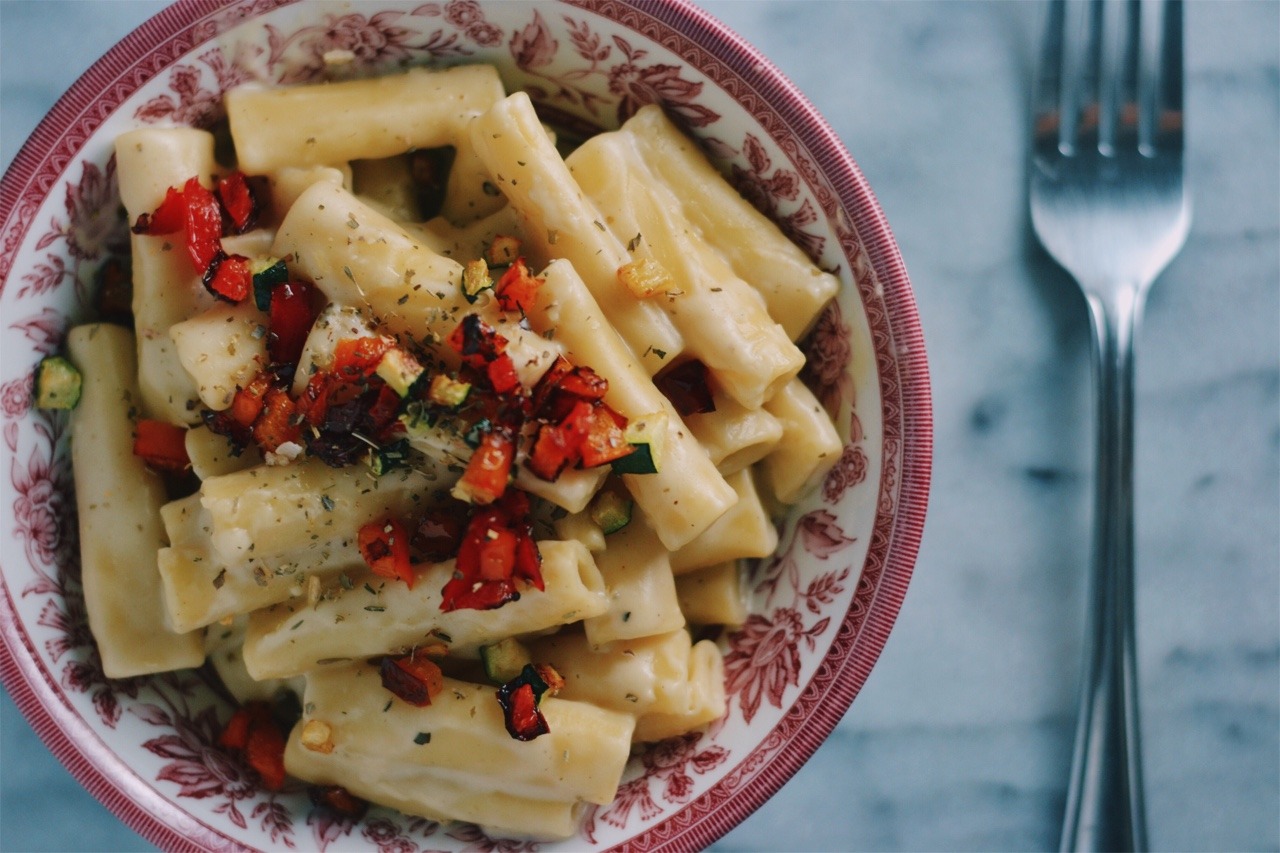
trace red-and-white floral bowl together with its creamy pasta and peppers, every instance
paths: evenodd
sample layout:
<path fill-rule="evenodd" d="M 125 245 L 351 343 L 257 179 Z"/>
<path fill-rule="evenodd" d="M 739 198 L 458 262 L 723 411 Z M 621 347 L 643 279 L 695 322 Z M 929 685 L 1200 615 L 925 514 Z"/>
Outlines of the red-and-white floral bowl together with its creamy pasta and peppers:
<path fill-rule="evenodd" d="M 0 676 L 163 848 L 700 848 L 897 616 L 905 268 L 681 0 L 175 4 L 0 243 Z"/>

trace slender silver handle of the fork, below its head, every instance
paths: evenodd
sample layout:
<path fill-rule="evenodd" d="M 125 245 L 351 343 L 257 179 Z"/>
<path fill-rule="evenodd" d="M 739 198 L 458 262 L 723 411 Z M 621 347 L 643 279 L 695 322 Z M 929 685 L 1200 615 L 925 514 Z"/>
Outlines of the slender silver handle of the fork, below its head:
<path fill-rule="evenodd" d="M 1146 287 L 1089 297 L 1097 483 L 1089 622 L 1062 850 L 1144 850 L 1133 580 L 1133 341 Z"/>

